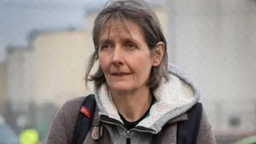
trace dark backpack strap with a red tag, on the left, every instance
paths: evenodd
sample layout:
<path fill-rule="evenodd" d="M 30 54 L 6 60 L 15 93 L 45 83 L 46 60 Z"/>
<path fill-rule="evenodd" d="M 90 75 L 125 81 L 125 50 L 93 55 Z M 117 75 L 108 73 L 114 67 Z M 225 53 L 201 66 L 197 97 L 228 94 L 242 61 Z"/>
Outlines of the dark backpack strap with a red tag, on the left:
<path fill-rule="evenodd" d="M 75 130 L 72 139 L 73 144 L 82 144 L 84 142 L 87 133 L 91 129 L 95 107 L 96 101 L 94 98 L 94 94 L 90 94 L 85 97 L 76 120 Z"/>

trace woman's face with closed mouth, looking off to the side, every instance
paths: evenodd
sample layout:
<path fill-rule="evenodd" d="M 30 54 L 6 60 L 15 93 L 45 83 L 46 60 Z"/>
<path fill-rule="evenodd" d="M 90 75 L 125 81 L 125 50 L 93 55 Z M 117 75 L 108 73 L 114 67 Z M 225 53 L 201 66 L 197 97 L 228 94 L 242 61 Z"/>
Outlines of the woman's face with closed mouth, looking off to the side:
<path fill-rule="evenodd" d="M 110 90 L 134 91 L 146 86 L 151 67 L 159 65 L 156 61 L 136 23 L 112 20 L 102 28 L 99 62 Z"/>

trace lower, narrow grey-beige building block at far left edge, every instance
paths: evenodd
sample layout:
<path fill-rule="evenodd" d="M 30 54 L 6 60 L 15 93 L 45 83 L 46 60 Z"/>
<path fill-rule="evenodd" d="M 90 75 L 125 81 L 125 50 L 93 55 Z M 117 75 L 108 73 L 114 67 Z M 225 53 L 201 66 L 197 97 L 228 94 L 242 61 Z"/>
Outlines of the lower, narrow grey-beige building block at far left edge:
<path fill-rule="evenodd" d="M 13 103 L 13 110 L 26 111 L 30 102 L 29 95 L 26 94 L 26 72 L 30 67 L 26 67 L 28 47 L 9 46 L 7 47 L 6 59 L 6 82 L 7 82 L 7 100 Z"/>

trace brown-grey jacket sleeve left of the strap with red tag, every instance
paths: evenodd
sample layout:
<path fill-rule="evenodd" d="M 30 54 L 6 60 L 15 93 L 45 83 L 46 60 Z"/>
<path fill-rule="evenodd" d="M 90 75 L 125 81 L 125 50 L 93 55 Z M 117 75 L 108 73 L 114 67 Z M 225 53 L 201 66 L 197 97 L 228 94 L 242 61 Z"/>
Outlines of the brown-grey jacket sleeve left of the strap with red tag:
<path fill-rule="evenodd" d="M 47 144 L 71 143 L 78 116 L 78 110 L 83 99 L 76 98 L 67 101 L 55 115 L 47 135 Z"/>

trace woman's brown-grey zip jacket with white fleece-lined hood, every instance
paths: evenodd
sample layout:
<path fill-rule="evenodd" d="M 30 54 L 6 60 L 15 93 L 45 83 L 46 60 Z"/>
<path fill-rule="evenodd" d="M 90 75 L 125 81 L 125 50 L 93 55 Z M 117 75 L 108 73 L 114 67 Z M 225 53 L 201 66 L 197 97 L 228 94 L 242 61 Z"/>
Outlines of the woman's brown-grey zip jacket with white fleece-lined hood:
<path fill-rule="evenodd" d="M 159 133 L 157 143 L 177 143 L 177 122 L 188 119 L 186 112 L 199 101 L 200 93 L 188 74 L 173 65 L 169 65 L 169 71 L 170 81 L 163 81 L 154 91 L 156 102 L 151 106 L 149 116 L 130 131 L 122 126 L 123 122 L 107 91 L 107 86 L 103 84 L 95 89 L 97 109 L 91 131 L 87 134 L 84 144 L 98 143 L 99 135 L 102 143 L 122 144 L 126 143 L 127 138 L 130 138 L 132 144 L 150 143 L 155 133 Z M 67 101 L 59 109 L 50 127 L 47 144 L 72 143 L 76 118 L 82 102 L 83 98 L 75 98 Z M 105 121 L 100 117 L 108 117 L 113 121 Z M 102 125 L 100 129 L 99 121 Z M 199 143 L 216 143 L 204 111 L 197 136 L 197 144 Z"/>

